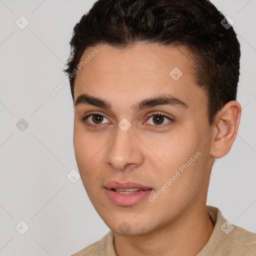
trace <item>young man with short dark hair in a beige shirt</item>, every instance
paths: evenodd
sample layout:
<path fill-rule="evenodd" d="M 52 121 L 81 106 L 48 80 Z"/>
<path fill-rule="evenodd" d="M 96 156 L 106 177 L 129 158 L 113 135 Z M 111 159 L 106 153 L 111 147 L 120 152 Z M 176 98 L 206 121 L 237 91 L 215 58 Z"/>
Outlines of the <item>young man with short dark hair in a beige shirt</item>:
<path fill-rule="evenodd" d="M 206 206 L 240 121 L 240 45 L 207 0 L 98 0 L 65 72 L 84 188 L 111 229 L 81 255 L 256 255 L 256 234 Z"/>

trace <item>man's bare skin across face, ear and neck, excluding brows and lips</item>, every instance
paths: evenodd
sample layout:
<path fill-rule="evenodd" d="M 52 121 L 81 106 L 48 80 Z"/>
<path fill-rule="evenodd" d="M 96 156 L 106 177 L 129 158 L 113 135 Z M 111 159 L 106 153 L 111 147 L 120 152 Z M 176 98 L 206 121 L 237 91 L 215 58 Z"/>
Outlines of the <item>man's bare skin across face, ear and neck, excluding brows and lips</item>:
<path fill-rule="evenodd" d="M 112 109 L 76 105 L 73 144 L 89 199 L 114 232 L 115 253 L 196 255 L 214 228 L 206 211 L 213 157 L 230 150 L 240 104 L 229 101 L 209 125 L 207 97 L 194 81 L 193 62 L 184 46 L 139 43 L 121 50 L 96 45 L 88 47 L 81 59 L 95 48 L 99 52 L 76 74 L 74 100 L 87 93 L 110 101 Z M 174 67 L 183 72 L 176 81 L 169 75 Z M 141 99 L 162 93 L 172 94 L 188 107 L 159 105 L 137 113 L 131 110 Z M 96 123 L 87 119 L 97 127 L 80 120 L 89 111 L 105 117 Z M 154 116 L 147 119 L 154 111 L 174 121 L 164 117 L 158 124 Z M 125 132 L 118 127 L 123 118 L 131 123 Z M 153 195 L 197 151 L 200 156 L 153 202 L 146 197 L 132 206 L 118 206 L 105 194 L 106 182 L 129 180 L 151 187 Z M 125 223 L 125 231 L 118 228 L 121 223 Z"/>

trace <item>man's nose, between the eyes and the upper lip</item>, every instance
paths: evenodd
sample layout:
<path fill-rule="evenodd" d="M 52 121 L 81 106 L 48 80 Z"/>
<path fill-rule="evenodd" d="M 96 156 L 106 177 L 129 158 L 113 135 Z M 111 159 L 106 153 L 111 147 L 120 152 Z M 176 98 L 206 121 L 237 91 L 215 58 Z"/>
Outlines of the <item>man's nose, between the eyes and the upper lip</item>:
<path fill-rule="evenodd" d="M 125 170 L 127 167 L 139 166 L 143 162 L 141 141 L 134 134 L 132 127 L 123 131 L 119 127 L 109 142 L 106 154 L 106 162 L 117 170 Z"/>

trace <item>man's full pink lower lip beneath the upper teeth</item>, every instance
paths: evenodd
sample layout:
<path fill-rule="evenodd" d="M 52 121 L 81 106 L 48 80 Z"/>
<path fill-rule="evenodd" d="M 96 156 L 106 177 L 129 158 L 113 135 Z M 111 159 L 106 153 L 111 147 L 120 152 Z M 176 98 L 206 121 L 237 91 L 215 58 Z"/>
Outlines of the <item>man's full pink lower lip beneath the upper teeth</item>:
<path fill-rule="evenodd" d="M 141 190 L 139 192 L 130 193 L 130 194 L 121 194 L 117 193 L 111 189 L 105 188 L 107 197 L 117 205 L 130 206 L 138 203 L 148 196 L 152 189 Z"/>

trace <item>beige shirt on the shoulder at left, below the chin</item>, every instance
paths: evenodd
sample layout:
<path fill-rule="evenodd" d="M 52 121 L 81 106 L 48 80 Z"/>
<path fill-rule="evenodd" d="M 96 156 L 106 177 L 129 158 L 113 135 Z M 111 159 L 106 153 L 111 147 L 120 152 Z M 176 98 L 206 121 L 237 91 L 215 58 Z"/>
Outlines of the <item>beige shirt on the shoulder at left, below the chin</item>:
<path fill-rule="evenodd" d="M 115 256 L 113 250 L 113 232 L 110 230 L 99 241 L 96 241 L 71 256 Z"/>

